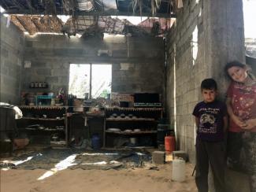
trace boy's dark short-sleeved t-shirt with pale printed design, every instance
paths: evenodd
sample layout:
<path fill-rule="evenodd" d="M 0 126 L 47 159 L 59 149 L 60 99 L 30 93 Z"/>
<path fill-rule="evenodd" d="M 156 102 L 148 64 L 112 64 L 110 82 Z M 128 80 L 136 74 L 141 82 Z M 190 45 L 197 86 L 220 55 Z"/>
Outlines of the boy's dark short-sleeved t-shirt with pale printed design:
<path fill-rule="evenodd" d="M 198 102 L 193 115 L 198 117 L 197 137 L 203 141 L 219 142 L 224 139 L 223 117 L 227 116 L 224 102 Z"/>

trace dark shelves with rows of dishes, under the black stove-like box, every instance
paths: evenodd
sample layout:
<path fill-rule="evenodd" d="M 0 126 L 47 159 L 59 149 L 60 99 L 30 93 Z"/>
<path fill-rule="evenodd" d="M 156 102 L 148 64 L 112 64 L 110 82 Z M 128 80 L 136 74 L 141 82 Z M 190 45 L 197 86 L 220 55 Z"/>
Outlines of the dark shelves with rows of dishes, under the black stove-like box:
<path fill-rule="evenodd" d="M 151 141 L 149 145 L 155 146 L 161 117 L 161 108 L 106 108 L 103 144 L 113 147 L 115 139 L 135 138 L 137 146 L 147 145 L 143 143 L 146 140 Z M 120 131 L 113 131 L 113 128 Z"/>

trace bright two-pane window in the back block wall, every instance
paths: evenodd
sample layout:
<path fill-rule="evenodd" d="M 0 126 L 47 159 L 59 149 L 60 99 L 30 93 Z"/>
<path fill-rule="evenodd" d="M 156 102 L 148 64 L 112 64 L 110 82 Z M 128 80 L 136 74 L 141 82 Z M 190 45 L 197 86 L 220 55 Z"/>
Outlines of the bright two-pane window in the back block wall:
<path fill-rule="evenodd" d="M 107 98 L 111 93 L 112 65 L 70 64 L 69 94 L 76 98 Z"/>

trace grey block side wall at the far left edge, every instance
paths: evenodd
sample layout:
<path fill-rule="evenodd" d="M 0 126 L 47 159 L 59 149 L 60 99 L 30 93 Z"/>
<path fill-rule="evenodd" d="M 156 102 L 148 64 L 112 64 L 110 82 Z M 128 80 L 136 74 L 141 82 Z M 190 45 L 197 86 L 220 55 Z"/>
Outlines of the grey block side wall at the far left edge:
<path fill-rule="evenodd" d="M 0 14 L 0 102 L 20 102 L 20 79 L 24 58 L 24 33 Z"/>

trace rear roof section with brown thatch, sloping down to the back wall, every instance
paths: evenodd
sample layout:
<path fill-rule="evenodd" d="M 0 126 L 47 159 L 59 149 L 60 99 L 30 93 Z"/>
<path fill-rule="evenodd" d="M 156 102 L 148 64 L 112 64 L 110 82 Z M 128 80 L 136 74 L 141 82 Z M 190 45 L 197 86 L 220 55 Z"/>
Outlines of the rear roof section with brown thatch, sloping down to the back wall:
<path fill-rule="evenodd" d="M 148 18 L 138 25 L 134 25 L 128 20 L 121 20 L 117 17 L 96 17 L 96 16 L 78 16 L 70 17 L 64 24 L 56 16 L 31 16 L 31 15 L 11 15 L 11 21 L 17 25 L 21 31 L 28 31 L 30 35 L 37 32 L 66 33 L 68 35 L 83 35 L 84 32 L 93 30 L 125 35 L 134 33 L 134 35 L 151 34 L 161 35 L 168 30 L 174 20 L 165 18 Z"/>

